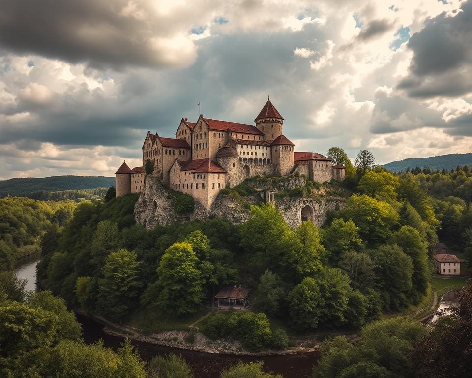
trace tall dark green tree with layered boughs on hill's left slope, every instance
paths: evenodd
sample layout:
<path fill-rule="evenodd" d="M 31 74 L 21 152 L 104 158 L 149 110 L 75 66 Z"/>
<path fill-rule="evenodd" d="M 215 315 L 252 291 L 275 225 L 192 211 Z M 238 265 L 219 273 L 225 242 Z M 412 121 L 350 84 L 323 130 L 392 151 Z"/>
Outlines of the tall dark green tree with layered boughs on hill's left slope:
<path fill-rule="evenodd" d="M 121 321 L 136 304 L 139 295 L 139 265 L 135 252 L 122 249 L 111 252 L 99 280 L 98 307 L 101 314 Z"/>

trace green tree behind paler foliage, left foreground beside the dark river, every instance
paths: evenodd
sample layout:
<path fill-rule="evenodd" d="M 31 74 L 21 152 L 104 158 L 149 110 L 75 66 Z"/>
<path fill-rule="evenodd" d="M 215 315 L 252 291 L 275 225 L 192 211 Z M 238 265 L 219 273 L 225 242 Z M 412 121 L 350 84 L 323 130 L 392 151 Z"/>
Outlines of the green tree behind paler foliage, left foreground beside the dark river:
<path fill-rule="evenodd" d="M 82 328 L 75 314 L 67 310 L 64 299 L 55 297 L 49 290 L 44 290 L 30 293 L 27 303 L 33 309 L 51 311 L 57 315 L 57 333 L 54 343 L 62 339 L 82 339 Z"/>

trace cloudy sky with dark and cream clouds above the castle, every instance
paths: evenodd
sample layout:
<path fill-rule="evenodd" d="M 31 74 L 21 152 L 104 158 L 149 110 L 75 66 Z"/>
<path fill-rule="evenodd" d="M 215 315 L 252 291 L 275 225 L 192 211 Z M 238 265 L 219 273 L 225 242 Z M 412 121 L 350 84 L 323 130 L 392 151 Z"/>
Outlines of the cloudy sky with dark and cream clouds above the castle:
<path fill-rule="evenodd" d="M 378 163 L 472 151 L 472 0 L 0 0 L 0 179 L 113 175 L 147 130 L 253 123 Z"/>

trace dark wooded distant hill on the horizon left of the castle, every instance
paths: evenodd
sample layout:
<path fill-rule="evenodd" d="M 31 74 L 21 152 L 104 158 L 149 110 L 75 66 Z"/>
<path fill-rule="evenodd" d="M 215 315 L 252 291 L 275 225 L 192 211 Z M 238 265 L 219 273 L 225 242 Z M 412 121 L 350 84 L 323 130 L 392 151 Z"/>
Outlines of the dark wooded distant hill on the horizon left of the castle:
<path fill-rule="evenodd" d="M 109 188 L 115 186 L 115 177 L 104 176 L 51 176 L 44 178 L 24 178 L 0 180 L 0 197 L 8 194 L 30 197 L 34 192 L 57 192 Z"/>

